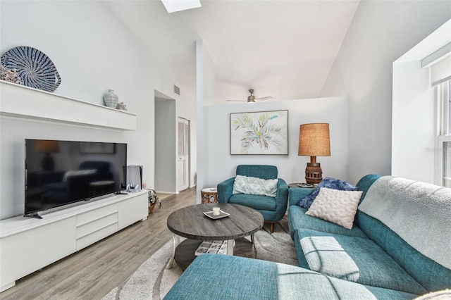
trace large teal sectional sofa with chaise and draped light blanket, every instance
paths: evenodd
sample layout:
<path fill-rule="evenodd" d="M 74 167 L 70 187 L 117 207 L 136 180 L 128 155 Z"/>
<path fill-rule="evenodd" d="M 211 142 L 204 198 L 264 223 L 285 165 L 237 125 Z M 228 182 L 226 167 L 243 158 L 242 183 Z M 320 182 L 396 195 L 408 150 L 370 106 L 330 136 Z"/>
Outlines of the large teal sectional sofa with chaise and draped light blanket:
<path fill-rule="evenodd" d="M 357 187 L 352 229 L 306 215 L 298 203 L 311 190 L 290 194 L 299 267 L 199 256 L 165 299 L 414 299 L 451 289 L 451 189 L 378 175 Z"/>

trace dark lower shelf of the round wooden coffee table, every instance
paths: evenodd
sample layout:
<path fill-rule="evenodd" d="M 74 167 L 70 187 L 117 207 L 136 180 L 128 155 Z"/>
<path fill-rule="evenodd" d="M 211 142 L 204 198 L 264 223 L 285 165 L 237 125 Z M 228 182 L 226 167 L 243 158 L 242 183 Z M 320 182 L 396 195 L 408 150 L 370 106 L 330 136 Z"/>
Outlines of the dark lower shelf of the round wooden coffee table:
<path fill-rule="evenodd" d="M 194 261 L 197 256 L 194 255 L 197 247 L 202 244 L 201 240 L 198 239 L 185 239 L 181 242 L 175 249 L 175 262 L 180 265 L 180 268 L 185 270 L 188 265 Z M 216 254 L 216 255 L 226 255 L 226 254 Z M 233 255 L 242 256 L 247 258 L 257 258 L 257 250 L 254 244 L 252 244 L 249 239 L 241 237 L 240 239 L 235 239 L 235 248 L 233 249 Z"/>

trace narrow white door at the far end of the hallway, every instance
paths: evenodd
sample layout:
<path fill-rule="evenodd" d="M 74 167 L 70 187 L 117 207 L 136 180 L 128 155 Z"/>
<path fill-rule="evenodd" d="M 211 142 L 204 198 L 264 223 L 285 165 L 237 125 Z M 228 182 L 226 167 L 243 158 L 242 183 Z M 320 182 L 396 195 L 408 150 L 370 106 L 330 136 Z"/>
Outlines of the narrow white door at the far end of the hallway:
<path fill-rule="evenodd" d="M 178 118 L 177 189 L 190 187 L 190 120 Z"/>

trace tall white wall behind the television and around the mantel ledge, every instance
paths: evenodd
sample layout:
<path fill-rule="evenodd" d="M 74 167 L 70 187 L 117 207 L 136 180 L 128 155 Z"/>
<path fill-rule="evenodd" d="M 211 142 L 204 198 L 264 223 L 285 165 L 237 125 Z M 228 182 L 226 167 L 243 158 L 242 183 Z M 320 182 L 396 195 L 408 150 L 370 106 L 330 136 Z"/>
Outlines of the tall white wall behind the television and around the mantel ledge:
<path fill-rule="evenodd" d="M 23 213 L 25 138 L 128 143 L 128 164 L 144 165 L 143 181 L 153 187 L 154 90 L 173 96 L 178 104 L 189 100 L 173 93 L 171 75 L 101 1 L 0 1 L 0 7 L 1 54 L 14 46 L 35 47 L 51 58 L 61 75 L 55 94 L 103 104 L 102 94 L 115 89 L 119 101 L 137 114 L 135 132 L 1 117 L 0 218 Z M 195 114 L 185 118 L 194 120 Z"/>

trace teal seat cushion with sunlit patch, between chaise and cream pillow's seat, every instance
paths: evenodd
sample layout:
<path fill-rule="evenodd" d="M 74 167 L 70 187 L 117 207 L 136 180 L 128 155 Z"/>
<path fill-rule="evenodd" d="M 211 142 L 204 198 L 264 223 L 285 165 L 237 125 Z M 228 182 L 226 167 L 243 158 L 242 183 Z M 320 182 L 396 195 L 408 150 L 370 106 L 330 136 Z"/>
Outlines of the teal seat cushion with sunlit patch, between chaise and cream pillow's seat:
<path fill-rule="evenodd" d="M 333 277 L 412 294 L 426 289 L 371 239 L 298 230 L 309 269 Z"/>

